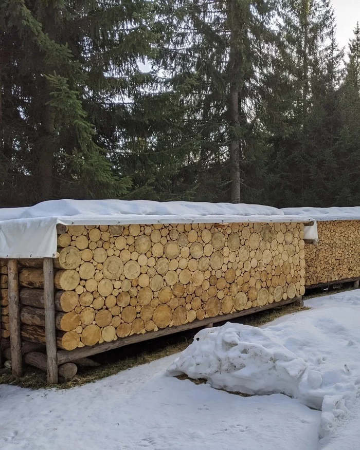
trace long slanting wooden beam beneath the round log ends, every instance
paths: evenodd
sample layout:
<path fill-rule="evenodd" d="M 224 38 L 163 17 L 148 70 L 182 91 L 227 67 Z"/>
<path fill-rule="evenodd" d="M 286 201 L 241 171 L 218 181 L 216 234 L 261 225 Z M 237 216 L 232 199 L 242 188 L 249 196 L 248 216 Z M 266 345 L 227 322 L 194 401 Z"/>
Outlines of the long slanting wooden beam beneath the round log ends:
<path fill-rule="evenodd" d="M 149 339 L 155 339 L 156 337 L 166 336 L 168 334 L 178 333 L 180 331 L 191 330 L 193 328 L 203 328 L 209 324 L 213 324 L 215 322 L 226 322 L 228 320 L 232 320 L 237 317 L 241 317 L 244 315 L 254 314 L 255 312 L 264 311 L 266 309 L 273 309 L 279 306 L 288 305 L 290 303 L 298 302 L 302 297 L 288 298 L 286 300 L 282 300 L 278 303 L 272 303 L 271 305 L 259 306 L 256 308 L 250 308 L 243 311 L 239 311 L 233 314 L 219 315 L 217 317 L 208 317 L 202 321 L 195 320 L 190 324 L 179 325 L 177 327 L 164 328 L 158 331 L 150 331 L 145 334 L 133 334 L 128 337 L 120 337 L 117 341 L 113 342 L 104 342 L 103 344 L 96 344 L 92 347 L 82 347 L 76 348 L 75 350 L 59 350 L 58 351 L 58 364 L 67 363 L 70 361 L 75 361 L 80 358 L 86 358 L 91 355 L 102 353 L 107 350 L 113 350 L 114 348 L 123 347 L 129 344 L 135 344 L 137 342 L 148 341 Z"/>

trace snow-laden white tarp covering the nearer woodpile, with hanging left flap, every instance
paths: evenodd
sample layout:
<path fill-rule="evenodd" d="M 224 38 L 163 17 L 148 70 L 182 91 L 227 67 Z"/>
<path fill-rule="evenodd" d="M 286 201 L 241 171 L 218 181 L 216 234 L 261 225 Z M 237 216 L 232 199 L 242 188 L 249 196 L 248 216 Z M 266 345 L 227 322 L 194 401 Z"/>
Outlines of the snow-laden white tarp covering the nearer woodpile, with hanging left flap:
<path fill-rule="evenodd" d="M 0 258 L 53 257 L 57 223 L 110 225 L 130 223 L 291 222 L 262 205 L 148 200 L 53 200 L 29 208 L 0 209 Z"/>

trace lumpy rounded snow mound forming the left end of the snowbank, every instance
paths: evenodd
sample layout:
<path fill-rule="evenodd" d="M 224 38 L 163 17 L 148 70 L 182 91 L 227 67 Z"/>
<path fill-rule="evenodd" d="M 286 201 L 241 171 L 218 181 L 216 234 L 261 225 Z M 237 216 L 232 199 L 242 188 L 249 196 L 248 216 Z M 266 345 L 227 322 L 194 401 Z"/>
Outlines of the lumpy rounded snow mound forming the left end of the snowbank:
<path fill-rule="evenodd" d="M 204 378 L 218 389 L 298 397 L 299 379 L 306 369 L 307 363 L 268 330 L 227 323 L 197 333 L 168 371 Z"/>

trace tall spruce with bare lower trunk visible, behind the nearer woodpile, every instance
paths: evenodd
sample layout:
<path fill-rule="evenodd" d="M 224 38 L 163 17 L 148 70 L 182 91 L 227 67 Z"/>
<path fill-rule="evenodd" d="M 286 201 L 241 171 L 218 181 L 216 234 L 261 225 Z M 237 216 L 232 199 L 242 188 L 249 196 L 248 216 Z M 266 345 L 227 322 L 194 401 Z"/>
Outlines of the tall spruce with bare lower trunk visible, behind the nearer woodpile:
<path fill-rule="evenodd" d="M 273 39 L 269 23 L 274 5 L 174 0 L 167 7 L 172 32 L 159 62 L 172 89 L 182 92 L 184 124 L 192 126 L 188 166 L 193 184 L 199 185 L 196 198 L 214 197 L 214 179 L 219 199 L 255 198 L 254 174 L 260 177 L 263 170 L 259 73 L 269 64 L 264 47 Z"/>

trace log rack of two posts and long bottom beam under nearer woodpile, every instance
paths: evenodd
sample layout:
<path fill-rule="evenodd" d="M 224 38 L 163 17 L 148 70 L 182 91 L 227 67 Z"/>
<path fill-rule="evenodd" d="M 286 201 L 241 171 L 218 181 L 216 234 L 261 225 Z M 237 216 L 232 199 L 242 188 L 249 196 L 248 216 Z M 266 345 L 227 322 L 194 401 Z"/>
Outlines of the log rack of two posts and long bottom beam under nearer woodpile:
<path fill-rule="evenodd" d="M 266 309 L 273 309 L 289 304 L 303 305 L 302 297 L 287 298 L 277 303 L 274 302 L 261 307 L 249 308 L 232 314 L 207 317 L 201 321 L 195 320 L 189 324 L 163 328 L 144 334 L 133 334 L 132 336 L 122 337 L 113 342 L 104 342 L 70 351 L 61 350 L 57 348 L 56 343 L 53 259 L 44 258 L 43 260 L 46 347 L 43 344 L 25 340 L 22 342 L 21 340 L 19 271 L 17 262 L 17 259 L 8 260 L 10 347 L 5 346 L 3 353 L 7 360 L 11 360 L 11 370 L 14 378 L 20 378 L 22 376 L 23 362 L 25 362 L 26 364 L 31 364 L 45 370 L 47 372 L 48 385 L 57 384 L 59 375 L 65 379 L 74 377 L 77 372 L 76 364 L 87 366 L 98 365 L 88 359 L 88 357 L 98 353 L 190 329 L 211 328 L 215 323 L 231 321 L 235 318 L 254 314 Z M 357 283 L 357 287 L 359 280 L 360 277 L 354 280 L 355 284 Z"/>

